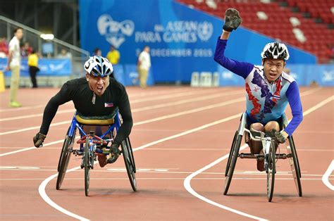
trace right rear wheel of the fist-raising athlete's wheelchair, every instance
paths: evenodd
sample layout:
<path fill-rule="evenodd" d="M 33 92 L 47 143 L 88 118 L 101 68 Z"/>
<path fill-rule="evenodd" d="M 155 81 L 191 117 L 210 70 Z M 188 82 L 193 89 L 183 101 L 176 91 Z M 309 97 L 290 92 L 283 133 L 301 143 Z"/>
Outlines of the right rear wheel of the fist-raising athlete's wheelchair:
<path fill-rule="evenodd" d="M 302 175 L 299 168 L 295 143 L 292 137 L 289 137 L 289 144 L 290 146 L 287 146 L 287 154 L 290 153 L 292 155 L 292 157 L 289 158 L 290 168 L 292 171 L 293 179 L 295 180 L 295 186 L 297 189 L 298 196 L 302 196 L 302 183 L 300 182 L 300 178 L 302 177 Z"/>

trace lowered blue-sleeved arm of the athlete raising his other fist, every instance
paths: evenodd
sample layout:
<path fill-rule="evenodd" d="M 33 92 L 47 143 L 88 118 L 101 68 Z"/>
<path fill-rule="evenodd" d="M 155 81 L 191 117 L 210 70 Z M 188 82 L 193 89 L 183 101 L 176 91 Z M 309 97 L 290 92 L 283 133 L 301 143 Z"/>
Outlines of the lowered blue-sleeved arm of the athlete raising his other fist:
<path fill-rule="evenodd" d="M 290 84 L 289 88 L 287 88 L 286 95 L 292 111 L 292 120 L 284 131 L 291 136 L 303 120 L 303 108 L 297 82 L 294 81 Z"/>

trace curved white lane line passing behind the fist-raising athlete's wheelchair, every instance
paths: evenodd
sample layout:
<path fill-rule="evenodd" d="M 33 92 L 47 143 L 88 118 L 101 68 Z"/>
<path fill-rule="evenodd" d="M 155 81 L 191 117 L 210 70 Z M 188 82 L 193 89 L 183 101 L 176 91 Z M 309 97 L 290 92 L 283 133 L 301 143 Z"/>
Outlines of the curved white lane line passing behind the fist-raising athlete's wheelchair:
<path fill-rule="evenodd" d="M 316 106 L 314 107 L 311 107 L 309 108 L 308 110 L 306 110 L 303 115 L 308 115 L 309 113 L 313 112 L 314 110 L 318 109 L 318 108 L 321 108 L 321 106 L 325 105 L 326 103 L 330 102 L 333 100 L 333 97 L 334 96 L 330 96 L 328 99 L 324 100 L 324 101 L 321 101 L 320 103 L 318 103 Z M 316 107 L 316 108 L 315 108 Z M 247 144 L 243 145 L 240 147 L 240 150 L 242 149 L 245 149 L 245 147 L 247 146 Z M 240 212 L 238 210 L 234 210 L 232 208 L 229 208 L 227 206 L 223 206 L 219 203 L 216 203 L 215 201 L 211 201 L 209 198 L 205 198 L 204 196 L 198 194 L 196 191 L 194 191 L 194 189 L 192 189 L 191 187 L 191 180 L 193 177 L 199 175 L 199 173 L 203 172 L 204 170 L 207 170 L 211 167 L 213 167 L 214 165 L 216 165 L 217 163 L 220 163 L 222 160 L 225 160 L 226 158 L 228 158 L 228 155 L 229 154 L 226 154 L 225 156 L 221 157 L 221 158 L 218 158 L 217 160 L 215 160 L 214 162 L 210 163 L 209 165 L 206 165 L 204 168 L 202 169 L 199 169 L 197 170 L 196 172 L 192 173 L 191 175 L 189 175 L 188 177 L 185 178 L 185 181 L 183 182 L 183 186 L 185 187 L 185 189 L 187 189 L 188 192 L 190 192 L 190 194 L 192 194 L 193 196 L 201 199 L 202 201 L 205 201 L 206 203 L 210 203 L 211 205 L 214 205 L 214 206 L 217 206 L 219 208 L 222 208 L 224 210 L 230 210 L 231 212 L 233 213 L 237 213 L 237 214 L 240 214 L 240 215 L 245 215 L 247 217 L 250 217 L 249 214 L 247 213 L 243 213 L 243 212 Z M 251 215 L 252 216 L 252 215 Z M 256 217 L 256 216 L 252 216 L 253 219 L 255 220 L 258 220 L 258 219 L 261 219 L 259 217 Z"/>

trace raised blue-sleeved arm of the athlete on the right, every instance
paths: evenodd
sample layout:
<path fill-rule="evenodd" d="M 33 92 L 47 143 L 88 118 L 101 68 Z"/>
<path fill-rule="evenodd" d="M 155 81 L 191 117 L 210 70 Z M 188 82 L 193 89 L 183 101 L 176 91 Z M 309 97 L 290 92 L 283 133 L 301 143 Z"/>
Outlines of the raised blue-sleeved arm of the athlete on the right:
<path fill-rule="evenodd" d="M 235 61 L 225 57 L 224 53 L 229 36 L 230 32 L 223 30 L 221 37 L 217 41 L 216 51 L 214 53 L 214 61 L 245 79 L 249 75 L 249 72 L 251 72 L 254 68 L 254 65 L 247 62 Z"/>

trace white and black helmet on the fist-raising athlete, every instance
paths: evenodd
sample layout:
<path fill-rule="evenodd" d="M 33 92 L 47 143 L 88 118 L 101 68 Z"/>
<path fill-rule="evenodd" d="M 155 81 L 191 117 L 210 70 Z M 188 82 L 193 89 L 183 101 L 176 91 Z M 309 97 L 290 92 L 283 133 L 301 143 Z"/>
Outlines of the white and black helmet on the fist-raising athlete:
<path fill-rule="evenodd" d="M 279 42 L 271 42 L 264 46 L 264 51 L 261 53 L 262 58 L 274 58 L 283 59 L 287 61 L 289 59 L 289 51 L 287 51 L 287 46 Z"/>

